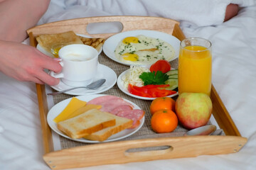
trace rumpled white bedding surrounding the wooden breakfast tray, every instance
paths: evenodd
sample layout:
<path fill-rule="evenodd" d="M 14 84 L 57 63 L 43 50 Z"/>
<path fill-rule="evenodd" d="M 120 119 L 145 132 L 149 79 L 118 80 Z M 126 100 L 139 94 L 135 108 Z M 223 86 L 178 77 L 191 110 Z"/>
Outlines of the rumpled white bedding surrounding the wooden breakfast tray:
<path fill-rule="evenodd" d="M 212 42 L 213 85 L 241 135 L 247 137 L 248 142 L 240 152 L 233 154 L 91 166 L 82 169 L 255 169 L 255 1 L 233 1 L 244 7 L 240 9 L 238 16 L 225 23 L 222 23 L 223 18 L 215 18 L 210 14 L 209 20 L 213 19 L 212 23 L 194 21 L 193 18 L 175 18 L 178 13 L 173 17 L 168 16 L 168 13 L 157 10 L 157 5 L 149 5 L 153 1 L 129 1 L 130 4 L 137 2 L 137 10 L 142 8 L 142 13 L 137 15 L 177 19 L 181 22 L 186 37 L 202 37 Z M 220 1 L 215 2 L 218 4 Z M 97 8 L 100 3 L 101 7 Z M 107 1 L 52 1 L 38 25 L 86 16 L 136 15 L 136 11 L 121 8 L 122 5 L 119 5 L 118 1 L 111 3 L 116 8 L 112 12 L 107 12 Z M 228 4 L 230 1 L 223 0 L 220 3 Z M 143 11 L 147 6 L 150 10 Z M 185 17 L 185 14 L 183 16 Z M 26 40 L 23 43 L 29 42 Z M 50 169 L 42 158 L 43 142 L 35 84 L 16 81 L 0 73 L 0 98 L 0 169 Z"/>

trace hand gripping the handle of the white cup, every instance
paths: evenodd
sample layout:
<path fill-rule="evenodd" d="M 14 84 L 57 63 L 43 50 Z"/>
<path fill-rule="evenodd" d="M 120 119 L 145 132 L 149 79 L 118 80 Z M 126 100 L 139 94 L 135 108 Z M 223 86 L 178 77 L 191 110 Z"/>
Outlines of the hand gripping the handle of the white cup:
<path fill-rule="evenodd" d="M 33 81 L 50 86 L 60 81 L 43 71 L 49 69 L 60 72 L 62 67 L 58 61 L 29 45 L 0 41 L 0 64 L 1 72 L 19 81 Z"/>

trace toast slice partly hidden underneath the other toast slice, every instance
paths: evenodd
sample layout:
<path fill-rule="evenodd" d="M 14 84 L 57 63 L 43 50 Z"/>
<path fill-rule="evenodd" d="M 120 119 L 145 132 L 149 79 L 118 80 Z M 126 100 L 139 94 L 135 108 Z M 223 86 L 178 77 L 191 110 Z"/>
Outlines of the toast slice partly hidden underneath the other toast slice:
<path fill-rule="evenodd" d="M 84 138 L 87 140 L 98 140 L 102 142 L 104 140 L 107 140 L 111 135 L 114 135 L 117 132 L 132 127 L 133 121 L 131 119 L 121 118 L 117 115 L 112 115 L 112 117 L 115 118 L 116 125 L 94 132 L 90 135 L 85 136 Z"/>

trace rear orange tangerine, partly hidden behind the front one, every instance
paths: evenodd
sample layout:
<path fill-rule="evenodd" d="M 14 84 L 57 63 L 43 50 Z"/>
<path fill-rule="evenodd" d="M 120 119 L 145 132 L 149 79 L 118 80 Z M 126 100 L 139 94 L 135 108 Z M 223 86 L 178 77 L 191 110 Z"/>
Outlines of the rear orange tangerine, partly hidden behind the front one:
<path fill-rule="evenodd" d="M 170 109 L 171 111 L 175 110 L 175 101 L 173 98 L 169 97 L 159 97 L 155 98 L 150 105 L 150 113 L 153 115 L 156 111 L 163 109 Z"/>

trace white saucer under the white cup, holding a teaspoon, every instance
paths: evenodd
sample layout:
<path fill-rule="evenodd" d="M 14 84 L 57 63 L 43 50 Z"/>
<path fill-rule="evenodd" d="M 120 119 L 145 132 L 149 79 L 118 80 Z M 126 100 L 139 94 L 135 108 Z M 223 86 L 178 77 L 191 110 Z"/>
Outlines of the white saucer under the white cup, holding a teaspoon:
<path fill-rule="evenodd" d="M 75 89 L 72 91 L 67 91 L 65 94 L 70 94 L 70 95 L 85 95 L 85 94 L 100 94 L 104 91 L 107 91 L 108 89 L 112 88 L 114 84 L 117 82 L 117 74 L 114 72 L 114 70 L 110 69 L 110 67 L 107 67 L 103 64 L 98 64 L 98 72 L 95 75 L 95 79 L 93 81 L 96 81 L 97 79 L 106 79 L 105 84 L 100 86 L 99 89 L 96 90 L 88 90 L 85 88 L 80 88 L 80 89 Z M 56 91 L 63 91 L 65 89 L 70 89 L 72 88 L 71 86 L 68 86 L 63 83 L 60 79 L 60 83 L 55 86 L 50 86 L 51 88 L 55 89 Z"/>

